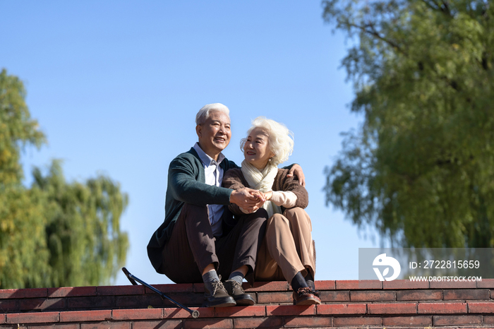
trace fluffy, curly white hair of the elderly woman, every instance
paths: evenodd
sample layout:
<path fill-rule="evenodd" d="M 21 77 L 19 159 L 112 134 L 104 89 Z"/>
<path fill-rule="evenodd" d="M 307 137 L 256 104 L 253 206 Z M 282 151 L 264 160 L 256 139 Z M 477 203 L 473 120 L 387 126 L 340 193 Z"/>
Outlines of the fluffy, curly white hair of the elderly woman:
<path fill-rule="evenodd" d="M 294 133 L 288 130 L 287 126 L 271 119 L 266 119 L 265 116 L 258 116 L 252 121 L 251 128 L 247 131 L 247 136 L 255 128 L 261 128 L 267 133 L 269 150 L 275 153 L 271 158 L 271 164 L 278 164 L 288 160 L 288 157 L 294 152 Z M 247 138 L 240 140 L 240 149 L 246 145 Z"/>

